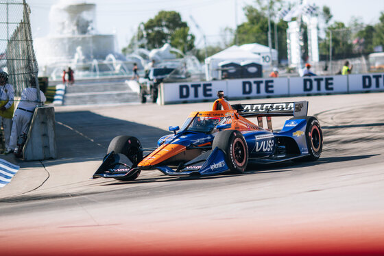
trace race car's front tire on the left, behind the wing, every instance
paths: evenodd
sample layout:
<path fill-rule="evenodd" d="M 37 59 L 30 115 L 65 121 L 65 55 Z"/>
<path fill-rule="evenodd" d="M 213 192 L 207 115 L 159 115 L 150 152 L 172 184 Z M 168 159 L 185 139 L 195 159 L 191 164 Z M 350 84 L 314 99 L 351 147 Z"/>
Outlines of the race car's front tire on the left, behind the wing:
<path fill-rule="evenodd" d="M 133 136 L 117 136 L 110 141 L 107 154 L 115 151 L 116 154 L 121 153 L 126 155 L 132 162 L 132 168 L 136 167 L 143 160 L 143 147 L 140 141 Z M 134 175 L 129 177 L 115 178 L 120 181 L 133 181 L 139 177 L 141 170 L 138 170 Z"/>

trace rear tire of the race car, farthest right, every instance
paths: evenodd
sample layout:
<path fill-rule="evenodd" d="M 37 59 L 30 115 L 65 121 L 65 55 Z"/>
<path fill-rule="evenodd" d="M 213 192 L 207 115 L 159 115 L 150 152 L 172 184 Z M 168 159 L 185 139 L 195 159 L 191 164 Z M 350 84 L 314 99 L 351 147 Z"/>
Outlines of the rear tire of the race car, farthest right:
<path fill-rule="evenodd" d="M 316 161 L 322 155 L 323 133 L 319 121 L 313 117 L 307 117 L 307 129 L 305 129 L 305 139 L 307 140 L 309 161 Z"/>

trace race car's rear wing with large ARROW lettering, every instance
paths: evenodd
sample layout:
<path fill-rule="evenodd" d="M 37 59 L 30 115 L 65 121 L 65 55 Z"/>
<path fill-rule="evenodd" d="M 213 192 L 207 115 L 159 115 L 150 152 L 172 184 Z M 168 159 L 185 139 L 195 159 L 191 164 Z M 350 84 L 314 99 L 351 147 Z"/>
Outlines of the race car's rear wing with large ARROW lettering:
<path fill-rule="evenodd" d="M 259 127 L 263 127 L 263 116 L 267 117 L 268 129 L 272 130 L 272 116 L 306 117 L 308 101 L 285 103 L 235 104 L 232 105 L 240 116 L 257 117 Z"/>

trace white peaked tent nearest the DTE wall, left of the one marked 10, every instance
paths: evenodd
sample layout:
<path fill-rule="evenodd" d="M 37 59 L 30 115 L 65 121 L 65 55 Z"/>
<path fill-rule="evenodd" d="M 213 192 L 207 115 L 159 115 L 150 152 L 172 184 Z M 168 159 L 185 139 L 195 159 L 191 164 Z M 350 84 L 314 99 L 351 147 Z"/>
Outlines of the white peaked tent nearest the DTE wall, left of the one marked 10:
<path fill-rule="evenodd" d="M 219 64 L 224 62 L 235 62 L 241 65 L 242 62 L 254 62 L 257 64 L 262 63 L 262 59 L 260 55 L 251 53 L 250 51 L 245 51 L 238 47 L 237 45 L 233 45 L 211 57 L 207 57 L 205 59 L 206 64 L 206 79 L 220 79 L 219 77 Z"/>

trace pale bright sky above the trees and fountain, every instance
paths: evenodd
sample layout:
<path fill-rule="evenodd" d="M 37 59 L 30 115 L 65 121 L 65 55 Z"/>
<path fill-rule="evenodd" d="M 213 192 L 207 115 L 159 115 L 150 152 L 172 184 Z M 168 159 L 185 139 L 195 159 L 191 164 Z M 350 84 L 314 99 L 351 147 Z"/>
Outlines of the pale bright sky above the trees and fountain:
<path fill-rule="evenodd" d="M 40 38 L 49 34 L 49 10 L 58 3 L 55 0 L 26 0 L 31 7 L 32 35 Z M 63 1 L 63 0 L 62 0 Z M 254 0 L 66 0 L 64 3 L 95 3 L 97 31 L 99 34 L 115 34 L 119 49 L 127 46 L 138 25 L 154 18 L 160 10 L 175 10 L 182 16 L 195 35 L 197 48 L 206 43 L 220 44 L 224 39 L 221 30 L 234 29 L 246 21 L 243 8 Z M 299 0 L 291 0 L 299 2 Z M 348 24 L 352 16 L 365 24 L 379 23 L 384 12 L 384 0 L 307 0 L 322 8 L 331 8 L 333 21 Z M 192 18 L 191 18 L 192 17 Z M 195 21 L 195 23 L 193 22 Z M 197 26 L 200 29 L 197 29 Z"/>

